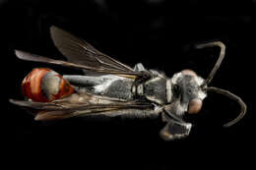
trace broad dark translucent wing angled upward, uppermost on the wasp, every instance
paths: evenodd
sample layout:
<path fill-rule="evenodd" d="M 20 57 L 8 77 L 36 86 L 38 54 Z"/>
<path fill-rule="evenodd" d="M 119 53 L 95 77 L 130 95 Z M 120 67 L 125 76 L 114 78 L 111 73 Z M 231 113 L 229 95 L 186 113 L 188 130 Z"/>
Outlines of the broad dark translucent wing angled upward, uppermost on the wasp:
<path fill-rule="evenodd" d="M 52 26 L 50 33 L 55 46 L 72 63 L 108 71 L 134 72 L 129 66 L 99 52 L 85 40 L 61 28 Z"/>

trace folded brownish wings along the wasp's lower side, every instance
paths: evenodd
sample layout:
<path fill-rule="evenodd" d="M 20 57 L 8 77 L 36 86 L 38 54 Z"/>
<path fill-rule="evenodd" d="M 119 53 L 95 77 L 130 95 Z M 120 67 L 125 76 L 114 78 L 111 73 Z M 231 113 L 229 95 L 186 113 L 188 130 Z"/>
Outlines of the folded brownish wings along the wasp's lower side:
<path fill-rule="evenodd" d="M 151 109 L 152 105 L 148 102 L 136 101 L 111 101 L 108 104 L 92 104 L 90 102 L 71 103 L 65 101 L 51 103 L 33 102 L 25 100 L 10 99 L 10 102 L 21 107 L 32 109 L 35 120 L 56 120 L 74 116 L 116 116 L 115 111 L 126 109 Z M 120 113 L 120 112 L 119 112 Z"/>

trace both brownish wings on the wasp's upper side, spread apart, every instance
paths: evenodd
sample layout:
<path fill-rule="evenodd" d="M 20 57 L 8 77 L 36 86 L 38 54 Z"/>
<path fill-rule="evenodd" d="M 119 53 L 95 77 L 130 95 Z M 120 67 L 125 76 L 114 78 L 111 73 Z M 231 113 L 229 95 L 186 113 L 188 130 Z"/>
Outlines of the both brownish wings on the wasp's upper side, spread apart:
<path fill-rule="evenodd" d="M 90 73 L 114 74 L 129 79 L 149 77 L 149 73 L 135 72 L 129 66 L 97 51 L 96 48 L 88 42 L 61 28 L 51 27 L 50 32 L 55 46 L 67 57 L 69 62 L 54 60 L 20 50 L 15 51 L 17 57 L 28 61 L 83 69 Z"/>

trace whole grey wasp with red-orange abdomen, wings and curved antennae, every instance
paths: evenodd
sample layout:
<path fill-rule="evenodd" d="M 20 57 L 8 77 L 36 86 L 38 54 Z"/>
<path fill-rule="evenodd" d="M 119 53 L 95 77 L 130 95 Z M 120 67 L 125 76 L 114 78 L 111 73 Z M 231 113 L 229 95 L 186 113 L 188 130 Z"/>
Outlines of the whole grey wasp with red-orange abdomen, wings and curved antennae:
<path fill-rule="evenodd" d="M 224 124 L 229 127 L 238 122 L 246 112 L 245 103 L 231 92 L 208 86 L 219 69 L 225 46 L 221 41 L 197 45 L 197 48 L 221 48 L 220 57 L 206 80 L 191 70 L 183 70 L 168 78 L 156 70 L 147 70 L 139 63 L 131 68 L 99 52 L 88 42 L 56 27 L 50 28 L 55 46 L 68 61 L 53 60 L 16 50 L 22 60 L 48 63 L 81 69 L 85 75 L 64 75 L 37 68 L 22 85 L 27 100 L 10 102 L 33 110 L 35 120 L 56 120 L 74 116 L 103 116 L 145 118 L 161 117 L 165 126 L 160 131 L 163 140 L 185 138 L 192 124 L 183 115 L 197 114 L 208 91 L 234 99 L 241 112 L 234 120 Z"/>

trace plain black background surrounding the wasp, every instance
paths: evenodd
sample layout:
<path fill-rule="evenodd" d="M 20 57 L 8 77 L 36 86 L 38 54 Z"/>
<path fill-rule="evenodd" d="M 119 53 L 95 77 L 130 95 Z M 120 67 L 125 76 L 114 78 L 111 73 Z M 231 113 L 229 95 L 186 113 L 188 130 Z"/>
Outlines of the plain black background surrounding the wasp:
<path fill-rule="evenodd" d="M 253 93 L 255 1 L 1 1 L 1 59 L 4 92 L 1 122 L 12 164 L 28 166 L 82 165 L 123 169 L 171 169 L 179 167 L 248 166 L 253 153 Z M 246 16 L 205 15 L 234 14 Z M 160 120 L 106 121 L 72 118 L 35 122 L 31 115 L 8 102 L 22 99 L 20 84 L 34 67 L 50 67 L 60 74 L 80 71 L 17 59 L 14 49 L 64 59 L 54 47 L 49 27 L 73 32 L 100 51 L 130 66 L 142 62 L 171 77 L 189 68 L 206 78 L 213 68 L 218 48 L 195 50 L 193 44 L 222 40 L 226 55 L 212 85 L 228 89 L 248 106 L 241 122 L 224 129 L 239 107 L 232 100 L 211 93 L 200 114 L 187 116 L 194 127 L 184 140 L 163 142 Z M 5 118 L 5 116 L 7 118 Z M 241 159 L 243 161 L 241 161 Z M 203 165 L 206 162 L 207 165 Z M 18 163 L 17 163 L 18 164 Z M 11 164 L 10 164 L 11 165 Z M 19 163 L 20 165 L 20 163 Z M 74 169 L 74 168 L 73 168 Z"/>

